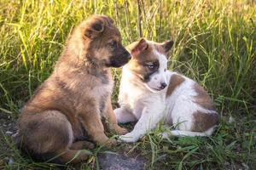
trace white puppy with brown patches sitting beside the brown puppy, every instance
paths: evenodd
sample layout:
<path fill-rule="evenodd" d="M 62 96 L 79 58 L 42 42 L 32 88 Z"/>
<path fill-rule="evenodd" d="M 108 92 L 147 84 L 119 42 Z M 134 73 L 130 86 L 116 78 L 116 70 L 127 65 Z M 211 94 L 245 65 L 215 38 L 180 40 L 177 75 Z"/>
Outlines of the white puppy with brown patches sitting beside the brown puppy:
<path fill-rule="evenodd" d="M 124 66 L 119 88 L 119 123 L 138 121 L 131 133 L 120 136 L 136 142 L 160 120 L 176 130 L 164 137 L 209 136 L 218 124 L 218 113 L 207 92 L 197 82 L 167 71 L 166 55 L 173 42 L 141 39 L 129 45 L 131 60 Z"/>

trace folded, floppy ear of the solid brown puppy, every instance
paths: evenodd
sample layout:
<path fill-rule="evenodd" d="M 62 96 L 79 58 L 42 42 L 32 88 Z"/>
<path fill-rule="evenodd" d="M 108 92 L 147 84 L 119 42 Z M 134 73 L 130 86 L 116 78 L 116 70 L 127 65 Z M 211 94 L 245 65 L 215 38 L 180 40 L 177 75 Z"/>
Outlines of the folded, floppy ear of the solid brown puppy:
<path fill-rule="evenodd" d="M 102 20 L 92 20 L 87 24 L 84 35 L 90 39 L 93 39 L 100 35 L 102 31 L 104 31 L 104 23 Z"/>

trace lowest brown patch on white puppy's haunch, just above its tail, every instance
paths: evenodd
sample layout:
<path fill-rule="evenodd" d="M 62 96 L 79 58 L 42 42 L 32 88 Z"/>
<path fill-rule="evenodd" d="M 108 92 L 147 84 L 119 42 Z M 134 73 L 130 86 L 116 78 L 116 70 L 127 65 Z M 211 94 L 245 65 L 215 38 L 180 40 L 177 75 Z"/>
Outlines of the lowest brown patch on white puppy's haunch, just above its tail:
<path fill-rule="evenodd" d="M 194 132 L 205 132 L 209 128 L 218 125 L 218 114 L 217 113 L 202 113 L 197 111 L 193 114 L 194 122 L 191 131 Z"/>

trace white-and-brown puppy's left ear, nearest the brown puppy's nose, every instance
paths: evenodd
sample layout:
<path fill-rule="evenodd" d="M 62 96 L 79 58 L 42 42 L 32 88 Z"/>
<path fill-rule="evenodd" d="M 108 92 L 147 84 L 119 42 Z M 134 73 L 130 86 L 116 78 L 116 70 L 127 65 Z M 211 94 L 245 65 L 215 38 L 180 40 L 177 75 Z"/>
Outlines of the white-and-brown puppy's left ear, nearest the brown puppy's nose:
<path fill-rule="evenodd" d="M 141 38 L 139 41 L 131 43 L 126 48 L 131 56 L 136 57 L 148 48 L 148 42 L 144 38 Z"/>

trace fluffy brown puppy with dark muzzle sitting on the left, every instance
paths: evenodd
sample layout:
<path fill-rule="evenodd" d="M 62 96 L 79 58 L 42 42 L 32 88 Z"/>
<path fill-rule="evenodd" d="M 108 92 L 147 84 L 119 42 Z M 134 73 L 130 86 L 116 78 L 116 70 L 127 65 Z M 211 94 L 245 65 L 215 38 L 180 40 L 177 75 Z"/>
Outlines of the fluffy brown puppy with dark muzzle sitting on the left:
<path fill-rule="evenodd" d="M 109 67 L 125 65 L 130 58 L 113 20 L 94 15 L 79 24 L 54 72 L 22 110 L 15 137 L 20 149 L 35 159 L 58 156 L 55 162 L 66 163 L 87 158 L 85 153 L 78 153 L 94 147 L 85 139 L 115 144 L 105 135 L 101 117 L 108 119 L 116 133 L 127 131 L 118 126 L 113 114 Z"/>

